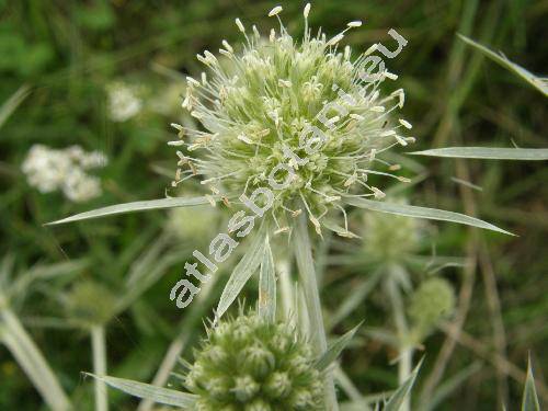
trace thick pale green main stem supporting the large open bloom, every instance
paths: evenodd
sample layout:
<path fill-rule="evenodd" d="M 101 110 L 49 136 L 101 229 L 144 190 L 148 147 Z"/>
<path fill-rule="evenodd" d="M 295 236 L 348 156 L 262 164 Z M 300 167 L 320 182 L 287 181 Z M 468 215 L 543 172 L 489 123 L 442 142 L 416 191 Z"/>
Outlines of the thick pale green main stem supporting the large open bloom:
<path fill-rule="evenodd" d="M 295 230 L 295 258 L 299 271 L 300 285 L 305 292 L 306 306 L 310 321 L 312 344 L 318 355 L 323 354 L 328 349 L 326 328 L 321 313 L 320 293 L 316 279 L 315 264 L 312 260 L 312 246 L 308 237 L 308 222 L 306 214 L 302 213 L 297 220 Z M 336 392 L 331 372 L 326 373 L 326 402 L 328 410 L 339 410 Z"/>

